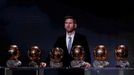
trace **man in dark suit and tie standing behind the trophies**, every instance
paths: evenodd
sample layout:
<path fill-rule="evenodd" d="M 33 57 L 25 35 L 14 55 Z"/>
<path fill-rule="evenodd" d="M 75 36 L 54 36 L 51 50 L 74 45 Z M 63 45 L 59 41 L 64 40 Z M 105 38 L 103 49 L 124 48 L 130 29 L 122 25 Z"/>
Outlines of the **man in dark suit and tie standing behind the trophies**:
<path fill-rule="evenodd" d="M 73 16 L 65 17 L 64 28 L 66 30 L 66 34 L 60 36 L 57 39 L 56 43 L 54 44 L 55 47 L 60 47 L 64 50 L 63 67 L 70 66 L 70 62 L 73 60 L 70 51 L 72 47 L 75 45 L 81 45 L 84 48 L 85 51 L 84 61 L 88 62 L 86 63 L 85 67 L 90 67 L 91 58 L 90 58 L 88 42 L 84 35 L 81 35 L 75 31 L 77 28 L 77 23 Z"/>

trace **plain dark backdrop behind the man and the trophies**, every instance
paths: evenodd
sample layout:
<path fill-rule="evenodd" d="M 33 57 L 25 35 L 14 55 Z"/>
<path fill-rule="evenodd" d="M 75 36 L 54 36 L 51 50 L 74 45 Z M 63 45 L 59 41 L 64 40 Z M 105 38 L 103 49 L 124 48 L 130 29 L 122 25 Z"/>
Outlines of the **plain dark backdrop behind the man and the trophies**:
<path fill-rule="evenodd" d="M 21 50 L 27 64 L 27 50 L 38 45 L 46 59 L 57 37 L 64 33 L 64 16 L 77 19 L 77 31 L 86 35 L 92 62 L 93 50 L 106 45 L 110 66 L 115 66 L 114 47 L 125 44 L 128 60 L 134 67 L 134 5 L 130 0 L 0 0 L 0 65 L 5 66 L 10 44 Z"/>

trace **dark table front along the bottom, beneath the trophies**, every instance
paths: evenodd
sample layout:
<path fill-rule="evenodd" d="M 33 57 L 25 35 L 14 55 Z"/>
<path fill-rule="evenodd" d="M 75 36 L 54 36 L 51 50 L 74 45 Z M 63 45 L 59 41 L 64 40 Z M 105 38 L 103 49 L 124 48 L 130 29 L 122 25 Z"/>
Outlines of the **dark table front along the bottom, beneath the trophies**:
<path fill-rule="evenodd" d="M 134 75 L 134 68 L 0 67 L 0 75 Z"/>

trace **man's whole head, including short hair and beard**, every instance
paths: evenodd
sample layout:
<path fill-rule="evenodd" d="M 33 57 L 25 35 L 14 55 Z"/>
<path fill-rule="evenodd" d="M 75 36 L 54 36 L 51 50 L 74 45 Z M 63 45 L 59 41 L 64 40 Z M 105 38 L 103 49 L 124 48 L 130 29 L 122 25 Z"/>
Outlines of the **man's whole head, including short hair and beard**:
<path fill-rule="evenodd" d="M 73 32 L 77 27 L 76 20 L 73 16 L 65 16 L 64 28 L 68 33 Z"/>

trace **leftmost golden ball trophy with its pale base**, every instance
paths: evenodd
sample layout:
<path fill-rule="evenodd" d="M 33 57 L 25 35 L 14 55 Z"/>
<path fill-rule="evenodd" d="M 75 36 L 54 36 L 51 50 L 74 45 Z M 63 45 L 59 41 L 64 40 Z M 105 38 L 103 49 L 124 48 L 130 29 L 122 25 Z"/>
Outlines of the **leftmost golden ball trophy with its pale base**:
<path fill-rule="evenodd" d="M 18 59 L 20 51 L 17 45 L 10 45 L 8 50 L 9 59 L 6 62 L 7 67 L 18 67 L 21 66 L 21 61 Z"/>

